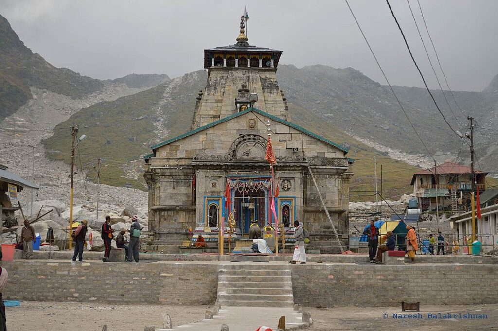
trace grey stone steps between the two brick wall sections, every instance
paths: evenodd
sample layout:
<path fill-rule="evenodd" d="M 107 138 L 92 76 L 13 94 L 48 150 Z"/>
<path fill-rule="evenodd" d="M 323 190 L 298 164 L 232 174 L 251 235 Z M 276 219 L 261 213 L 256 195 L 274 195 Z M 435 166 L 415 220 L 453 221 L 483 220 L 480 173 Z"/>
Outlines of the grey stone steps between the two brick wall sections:
<path fill-rule="evenodd" d="M 291 271 L 282 265 L 223 266 L 218 275 L 222 307 L 294 307 Z"/>

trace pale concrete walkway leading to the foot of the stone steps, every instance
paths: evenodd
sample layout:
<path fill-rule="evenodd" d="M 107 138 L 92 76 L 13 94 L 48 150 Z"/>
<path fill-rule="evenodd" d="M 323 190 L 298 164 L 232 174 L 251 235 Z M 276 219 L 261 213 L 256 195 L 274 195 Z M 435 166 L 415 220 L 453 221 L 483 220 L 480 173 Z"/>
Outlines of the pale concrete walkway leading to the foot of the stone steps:
<path fill-rule="evenodd" d="M 156 331 L 220 331 L 226 324 L 230 331 L 254 331 L 260 326 L 277 330 L 278 319 L 285 316 L 285 330 L 304 329 L 308 323 L 302 322 L 302 315 L 292 308 L 257 308 L 257 307 L 222 307 L 212 320 L 175 327 L 173 329 L 155 329 Z"/>

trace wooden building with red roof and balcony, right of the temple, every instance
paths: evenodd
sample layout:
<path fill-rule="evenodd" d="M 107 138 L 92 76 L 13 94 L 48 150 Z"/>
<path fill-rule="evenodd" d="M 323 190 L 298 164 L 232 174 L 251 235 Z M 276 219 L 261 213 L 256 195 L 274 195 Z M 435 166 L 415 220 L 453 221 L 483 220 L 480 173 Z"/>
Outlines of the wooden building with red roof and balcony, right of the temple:
<path fill-rule="evenodd" d="M 487 172 L 475 170 L 476 190 L 486 190 Z M 423 211 L 465 210 L 470 206 L 472 192 L 472 171 L 470 167 L 445 162 L 437 167 L 413 174 L 413 194 L 420 201 Z"/>

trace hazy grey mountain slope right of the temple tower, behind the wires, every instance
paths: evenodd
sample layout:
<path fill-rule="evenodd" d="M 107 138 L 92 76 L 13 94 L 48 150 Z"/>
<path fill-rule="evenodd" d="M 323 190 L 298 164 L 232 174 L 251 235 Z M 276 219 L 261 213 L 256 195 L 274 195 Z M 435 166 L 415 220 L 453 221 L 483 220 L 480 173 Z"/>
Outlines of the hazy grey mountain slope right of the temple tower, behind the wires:
<path fill-rule="evenodd" d="M 290 102 L 325 116 L 353 136 L 407 154 L 427 154 L 389 88 L 361 72 L 353 68 L 336 69 L 323 65 L 303 68 L 280 65 L 277 75 Z M 460 150 L 462 141 L 444 123 L 426 90 L 403 86 L 394 86 L 394 90 L 431 154 Z M 495 128 L 498 122 L 498 93 L 454 91 L 462 109 L 460 111 L 451 94 L 445 91 L 453 113 L 441 91 L 432 93 L 455 129 L 465 132 L 467 114 L 473 115 L 484 127 L 479 134 L 475 134 L 476 153 L 484 170 L 498 172 L 498 160 L 495 160 L 496 153 L 493 153 L 496 145 L 493 144 L 493 136 L 498 134 Z M 468 161 L 469 154 L 461 156 Z"/>

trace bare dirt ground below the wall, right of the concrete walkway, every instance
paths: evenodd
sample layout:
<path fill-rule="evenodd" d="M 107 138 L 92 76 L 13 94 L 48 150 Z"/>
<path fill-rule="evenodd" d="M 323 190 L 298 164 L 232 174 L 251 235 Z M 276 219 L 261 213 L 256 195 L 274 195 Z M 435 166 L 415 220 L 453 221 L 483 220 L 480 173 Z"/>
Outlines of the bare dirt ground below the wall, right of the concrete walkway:
<path fill-rule="evenodd" d="M 400 305 L 401 306 L 401 305 Z M 394 319 L 393 313 L 401 312 L 401 307 L 340 307 L 305 308 L 311 312 L 314 321 L 312 331 L 334 330 L 410 330 L 410 331 L 475 331 L 498 330 L 498 304 L 470 306 L 421 306 L 422 319 Z M 487 319 L 428 319 L 427 314 L 473 314 L 487 315 Z M 387 314 L 387 318 L 384 318 Z"/>

